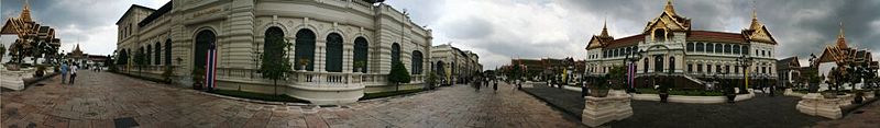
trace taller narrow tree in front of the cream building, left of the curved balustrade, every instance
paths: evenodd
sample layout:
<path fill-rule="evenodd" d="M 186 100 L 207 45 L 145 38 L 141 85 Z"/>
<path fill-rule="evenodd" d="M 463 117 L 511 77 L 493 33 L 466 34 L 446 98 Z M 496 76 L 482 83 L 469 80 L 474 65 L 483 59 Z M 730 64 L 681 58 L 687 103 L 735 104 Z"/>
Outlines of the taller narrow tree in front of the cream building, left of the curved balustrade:
<path fill-rule="evenodd" d="M 284 38 L 280 36 L 267 36 L 266 40 L 265 50 L 263 51 L 263 62 L 260 63 L 260 73 L 262 73 L 264 79 L 273 81 L 275 95 L 277 95 L 278 80 L 287 78 L 293 72 L 293 66 L 290 61 L 288 61 L 288 57 L 285 56 L 287 55 L 285 48 L 289 49 L 292 44 L 285 43 Z"/>

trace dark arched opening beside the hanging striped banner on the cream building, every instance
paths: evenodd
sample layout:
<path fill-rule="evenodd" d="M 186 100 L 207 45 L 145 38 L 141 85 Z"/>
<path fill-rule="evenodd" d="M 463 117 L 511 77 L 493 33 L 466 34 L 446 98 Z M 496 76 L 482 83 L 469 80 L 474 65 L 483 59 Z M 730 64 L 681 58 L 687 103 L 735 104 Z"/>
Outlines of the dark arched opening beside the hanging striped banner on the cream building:
<path fill-rule="evenodd" d="M 205 69 L 208 63 L 208 49 L 217 42 L 217 36 L 211 31 L 201 31 L 196 35 L 196 53 L 193 59 L 193 65 L 196 68 Z M 209 70 L 209 69 L 206 69 Z"/>

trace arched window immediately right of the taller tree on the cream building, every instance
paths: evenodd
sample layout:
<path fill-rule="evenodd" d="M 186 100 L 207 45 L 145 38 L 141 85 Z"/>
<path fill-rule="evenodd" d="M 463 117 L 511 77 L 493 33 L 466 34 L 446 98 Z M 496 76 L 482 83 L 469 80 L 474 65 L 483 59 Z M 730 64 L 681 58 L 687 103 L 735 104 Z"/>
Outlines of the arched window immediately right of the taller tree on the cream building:
<path fill-rule="evenodd" d="M 294 66 L 297 70 L 315 70 L 315 33 L 311 30 L 299 30 L 296 32 L 296 55 Z"/>

